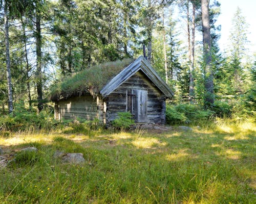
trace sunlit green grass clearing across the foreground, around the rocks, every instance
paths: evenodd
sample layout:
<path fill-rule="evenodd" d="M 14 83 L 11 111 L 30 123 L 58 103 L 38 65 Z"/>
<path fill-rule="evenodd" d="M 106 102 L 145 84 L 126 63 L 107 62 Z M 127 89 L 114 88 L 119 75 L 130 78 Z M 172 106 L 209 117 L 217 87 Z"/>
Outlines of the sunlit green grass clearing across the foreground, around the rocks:
<path fill-rule="evenodd" d="M 219 120 L 189 132 L 2 137 L 5 152 L 39 151 L 0 171 L 0 203 L 255 203 L 255 132 L 253 122 Z M 62 164 L 56 150 L 86 163 Z"/>

